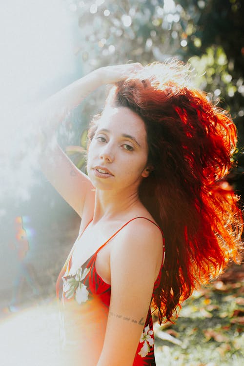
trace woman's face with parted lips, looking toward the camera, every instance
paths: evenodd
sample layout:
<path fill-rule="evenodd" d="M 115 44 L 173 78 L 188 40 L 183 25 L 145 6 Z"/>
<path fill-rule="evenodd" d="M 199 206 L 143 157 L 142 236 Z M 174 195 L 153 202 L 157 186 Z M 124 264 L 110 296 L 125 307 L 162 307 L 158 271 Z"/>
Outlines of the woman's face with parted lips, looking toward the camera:
<path fill-rule="evenodd" d="M 106 106 L 90 143 L 87 172 L 102 190 L 138 189 L 146 170 L 148 146 L 142 119 L 127 107 Z"/>

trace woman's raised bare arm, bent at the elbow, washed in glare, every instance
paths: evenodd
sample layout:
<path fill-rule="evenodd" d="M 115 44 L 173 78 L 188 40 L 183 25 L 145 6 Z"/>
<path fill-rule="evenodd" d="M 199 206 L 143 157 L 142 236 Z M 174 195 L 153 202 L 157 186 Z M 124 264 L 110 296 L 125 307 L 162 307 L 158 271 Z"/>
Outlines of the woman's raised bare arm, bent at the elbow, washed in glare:
<path fill-rule="evenodd" d="M 89 178 L 83 174 L 53 139 L 55 130 L 69 112 L 102 84 L 126 79 L 142 68 L 140 63 L 107 66 L 97 69 L 71 83 L 42 103 L 38 109 L 41 129 L 41 169 L 61 196 L 82 217 L 85 203 L 93 209 L 94 191 Z"/>

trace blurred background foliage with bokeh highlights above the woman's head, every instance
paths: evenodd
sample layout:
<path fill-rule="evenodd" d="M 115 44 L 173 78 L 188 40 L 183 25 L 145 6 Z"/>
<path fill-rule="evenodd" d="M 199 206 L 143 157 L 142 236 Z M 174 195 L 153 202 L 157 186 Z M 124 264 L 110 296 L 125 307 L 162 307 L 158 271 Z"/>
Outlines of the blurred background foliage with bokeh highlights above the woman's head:
<path fill-rule="evenodd" d="M 196 85 L 229 110 L 244 142 L 244 3 L 241 0 L 66 0 L 77 17 L 76 55 L 83 73 L 128 61 L 147 64 L 177 57 L 191 62 Z M 104 93 L 103 93 L 104 94 Z M 91 96 L 87 119 L 99 103 Z M 79 127 L 80 128 L 80 127 Z M 243 160 L 243 161 L 242 161 Z M 240 178 L 239 176 L 239 178 Z"/>

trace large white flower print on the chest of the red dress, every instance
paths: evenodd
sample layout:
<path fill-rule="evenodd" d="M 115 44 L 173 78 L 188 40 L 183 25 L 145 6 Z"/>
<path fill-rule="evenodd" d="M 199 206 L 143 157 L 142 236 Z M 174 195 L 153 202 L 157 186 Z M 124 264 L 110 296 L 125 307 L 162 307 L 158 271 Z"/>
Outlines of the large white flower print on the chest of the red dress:
<path fill-rule="evenodd" d="M 81 303 L 85 303 L 88 300 L 88 290 L 84 284 L 82 284 L 82 280 L 87 276 L 91 267 L 85 268 L 82 272 L 82 268 L 80 267 L 76 271 L 75 276 L 67 276 L 68 278 L 62 277 L 63 280 L 63 292 L 65 293 L 66 299 L 72 299 L 75 296 L 76 301 L 79 305 Z"/>

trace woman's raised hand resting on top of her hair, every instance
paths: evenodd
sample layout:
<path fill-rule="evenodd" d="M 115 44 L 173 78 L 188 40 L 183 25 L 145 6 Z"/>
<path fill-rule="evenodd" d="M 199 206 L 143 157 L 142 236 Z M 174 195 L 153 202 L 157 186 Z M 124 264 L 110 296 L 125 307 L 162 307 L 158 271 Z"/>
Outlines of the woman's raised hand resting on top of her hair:
<path fill-rule="evenodd" d="M 142 70 L 140 62 L 126 63 L 123 65 L 105 66 L 96 70 L 102 84 L 113 84 L 130 77 L 132 74 Z"/>

